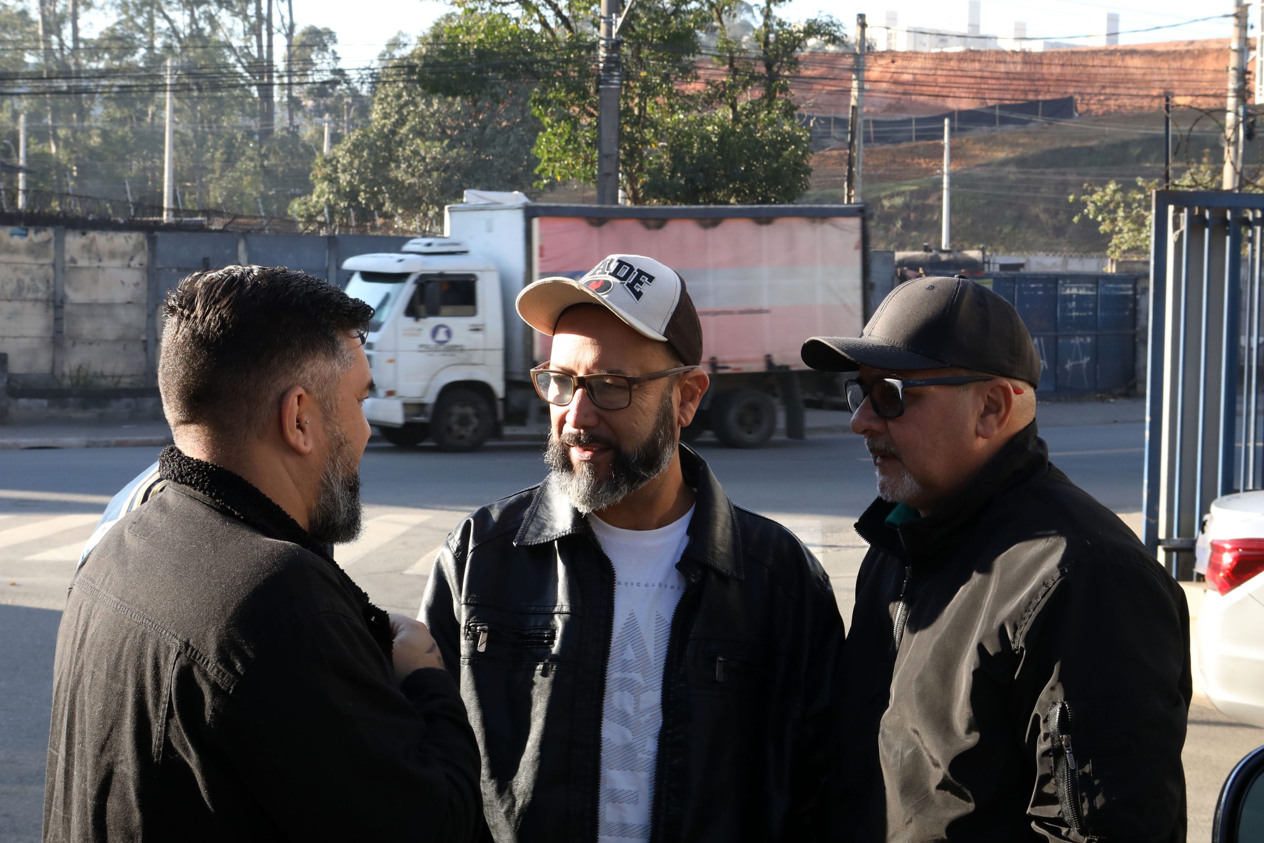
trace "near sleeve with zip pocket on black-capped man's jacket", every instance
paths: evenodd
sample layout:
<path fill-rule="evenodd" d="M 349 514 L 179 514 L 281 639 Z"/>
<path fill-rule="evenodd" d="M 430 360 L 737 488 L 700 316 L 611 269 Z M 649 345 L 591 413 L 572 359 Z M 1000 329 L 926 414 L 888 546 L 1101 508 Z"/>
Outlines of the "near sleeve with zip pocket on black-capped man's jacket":
<path fill-rule="evenodd" d="M 1064 562 L 1028 627 L 1019 714 L 1033 829 L 1049 840 L 1184 840 L 1192 689 L 1179 586 L 1140 554 Z"/>

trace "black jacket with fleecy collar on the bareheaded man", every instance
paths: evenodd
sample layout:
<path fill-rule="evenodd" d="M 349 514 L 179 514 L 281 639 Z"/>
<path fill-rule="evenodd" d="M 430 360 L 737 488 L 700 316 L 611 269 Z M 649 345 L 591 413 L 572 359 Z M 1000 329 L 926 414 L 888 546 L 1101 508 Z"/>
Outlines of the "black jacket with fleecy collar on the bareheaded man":
<path fill-rule="evenodd" d="M 281 507 L 169 447 L 71 585 L 44 840 L 469 840 L 451 676 L 397 685 L 389 618 Z"/>

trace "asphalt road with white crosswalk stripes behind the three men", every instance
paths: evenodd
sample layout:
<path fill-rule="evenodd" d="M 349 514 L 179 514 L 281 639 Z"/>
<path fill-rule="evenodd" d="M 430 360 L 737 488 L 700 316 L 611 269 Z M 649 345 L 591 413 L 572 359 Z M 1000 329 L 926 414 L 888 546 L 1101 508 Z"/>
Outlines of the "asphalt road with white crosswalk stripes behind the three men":
<path fill-rule="evenodd" d="M 1139 423 L 1048 427 L 1053 460 L 1131 523 L 1141 506 Z M 794 530 L 829 571 L 843 618 L 865 554 L 852 530 L 873 494 L 872 466 L 847 435 L 731 451 L 702 441 L 729 497 Z M 38 840 L 52 660 L 78 549 L 105 502 L 155 459 L 149 449 L 0 451 L 0 840 Z M 493 444 L 477 454 L 372 445 L 363 464 L 367 530 L 336 556 L 374 600 L 416 613 L 447 531 L 483 503 L 544 475 L 540 449 Z M 1264 743 L 1202 700 L 1189 714 L 1189 839 L 1210 839 L 1220 784 Z"/>

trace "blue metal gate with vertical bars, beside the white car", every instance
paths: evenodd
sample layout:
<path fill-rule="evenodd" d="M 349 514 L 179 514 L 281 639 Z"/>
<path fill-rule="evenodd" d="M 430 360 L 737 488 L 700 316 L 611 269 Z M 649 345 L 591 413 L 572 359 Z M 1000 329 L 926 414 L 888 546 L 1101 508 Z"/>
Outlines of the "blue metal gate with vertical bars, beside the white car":
<path fill-rule="evenodd" d="M 1153 212 L 1141 537 L 1173 574 L 1187 575 L 1211 502 L 1264 479 L 1264 196 L 1157 191 Z"/>

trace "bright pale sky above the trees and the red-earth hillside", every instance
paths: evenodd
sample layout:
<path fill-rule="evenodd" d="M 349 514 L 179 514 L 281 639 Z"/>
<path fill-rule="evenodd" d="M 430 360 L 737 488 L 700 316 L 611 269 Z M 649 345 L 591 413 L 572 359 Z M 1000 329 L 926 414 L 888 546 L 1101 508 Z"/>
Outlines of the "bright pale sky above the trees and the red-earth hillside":
<path fill-rule="evenodd" d="M 1254 5 L 1254 4 L 1253 4 Z M 377 56 L 396 32 L 417 34 L 447 9 L 439 0 L 296 0 L 295 16 L 300 27 L 329 27 L 339 35 L 339 53 L 346 67 L 363 64 Z M 790 0 L 784 14 L 791 19 L 830 14 L 854 24 L 856 13 L 868 15 L 870 25 L 882 25 L 886 11 L 899 14 L 902 28 L 966 29 L 967 0 Z M 1026 23 L 1029 37 L 1057 39 L 1066 35 L 1102 33 L 1106 13 L 1120 16 L 1120 43 L 1177 40 L 1184 38 L 1227 38 L 1232 24 L 1227 18 L 1189 24 L 1176 29 L 1129 34 L 1130 29 L 1178 24 L 1232 11 L 1231 0 L 1196 4 L 1187 0 L 1127 0 L 1092 3 L 1091 0 L 982 0 L 982 32 L 1009 37 L 1014 21 Z M 1253 18 L 1253 35 L 1255 13 Z M 1082 43 L 1082 42 L 1081 42 Z"/>

